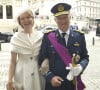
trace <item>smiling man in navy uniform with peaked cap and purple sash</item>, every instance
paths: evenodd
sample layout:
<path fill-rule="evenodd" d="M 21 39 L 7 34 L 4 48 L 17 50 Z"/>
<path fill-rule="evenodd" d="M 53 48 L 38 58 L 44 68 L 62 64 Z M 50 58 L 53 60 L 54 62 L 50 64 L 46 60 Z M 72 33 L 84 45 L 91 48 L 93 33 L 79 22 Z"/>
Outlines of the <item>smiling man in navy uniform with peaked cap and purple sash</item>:
<path fill-rule="evenodd" d="M 44 34 L 39 54 L 40 66 L 45 59 L 49 60 L 45 90 L 83 90 L 85 87 L 81 74 L 89 56 L 84 34 L 69 27 L 70 9 L 66 3 L 58 3 L 51 9 L 58 29 Z"/>

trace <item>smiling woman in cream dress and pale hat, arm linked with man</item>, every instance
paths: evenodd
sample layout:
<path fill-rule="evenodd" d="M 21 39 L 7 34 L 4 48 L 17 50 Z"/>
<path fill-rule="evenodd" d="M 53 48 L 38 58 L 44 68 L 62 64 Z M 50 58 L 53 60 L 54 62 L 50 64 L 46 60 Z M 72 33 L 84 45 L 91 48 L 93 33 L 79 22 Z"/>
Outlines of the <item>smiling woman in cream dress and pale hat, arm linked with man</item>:
<path fill-rule="evenodd" d="M 17 20 L 23 31 L 15 33 L 11 39 L 7 90 L 41 90 L 37 58 L 43 34 L 32 29 L 31 10 L 21 12 Z"/>

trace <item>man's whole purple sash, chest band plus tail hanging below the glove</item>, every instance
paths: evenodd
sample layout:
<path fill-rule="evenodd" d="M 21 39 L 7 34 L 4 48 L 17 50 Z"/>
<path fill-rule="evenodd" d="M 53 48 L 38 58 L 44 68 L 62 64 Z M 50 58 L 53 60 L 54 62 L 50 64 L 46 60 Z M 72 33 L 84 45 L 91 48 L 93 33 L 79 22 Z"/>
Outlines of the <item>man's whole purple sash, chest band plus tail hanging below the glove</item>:
<path fill-rule="evenodd" d="M 54 32 L 51 32 L 48 34 L 48 39 L 50 40 L 50 42 L 52 43 L 52 45 L 56 49 L 57 53 L 59 54 L 59 56 L 61 57 L 61 59 L 65 63 L 65 65 L 69 66 L 69 63 L 72 62 L 72 57 L 71 57 L 68 49 L 57 42 L 57 38 L 55 37 Z M 85 85 L 83 84 L 83 82 L 81 80 L 81 76 L 77 77 L 77 82 L 78 82 L 77 89 L 83 90 L 85 88 Z M 76 88 L 75 88 L 75 90 L 76 90 Z"/>

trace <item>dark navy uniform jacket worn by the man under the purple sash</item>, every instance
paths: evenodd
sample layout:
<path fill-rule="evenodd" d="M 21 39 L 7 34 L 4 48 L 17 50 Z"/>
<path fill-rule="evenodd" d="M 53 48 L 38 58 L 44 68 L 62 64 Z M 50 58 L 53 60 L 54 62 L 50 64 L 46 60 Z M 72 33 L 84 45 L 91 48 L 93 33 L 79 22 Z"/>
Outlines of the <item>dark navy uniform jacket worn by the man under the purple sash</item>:
<path fill-rule="evenodd" d="M 59 31 L 56 30 L 55 32 L 55 37 L 57 38 L 58 42 L 62 45 L 62 38 L 59 34 Z M 50 32 L 49 32 L 50 33 Z M 45 58 L 49 59 L 49 65 L 50 65 L 50 70 L 48 73 L 45 75 L 46 76 L 46 90 L 73 90 L 73 89 L 67 89 L 68 87 L 71 87 L 69 85 L 68 80 L 66 80 L 66 76 L 69 72 L 69 70 L 66 70 L 66 65 L 64 62 L 61 60 L 60 56 L 56 52 L 55 48 L 49 41 L 47 35 L 49 33 L 44 34 L 42 45 L 41 45 L 41 50 L 39 54 L 39 65 L 43 62 Z M 85 36 L 83 33 L 79 31 L 73 31 L 70 30 L 69 38 L 68 38 L 68 43 L 66 48 L 68 48 L 70 54 L 72 55 L 73 53 L 78 53 L 80 55 L 80 60 L 78 63 L 81 64 L 83 67 L 83 70 L 86 68 L 89 62 L 89 55 L 86 49 L 86 42 L 85 42 Z M 66 81 L 65 85 L 62 87 L 54 88 L 50 84 L 50 80 L 55 76 L 60 76 Z M 67 84 L 68 83 L 68 84 Z M 67 86 L 66 86 L 67 85 Z"/>

